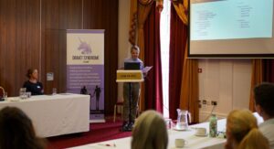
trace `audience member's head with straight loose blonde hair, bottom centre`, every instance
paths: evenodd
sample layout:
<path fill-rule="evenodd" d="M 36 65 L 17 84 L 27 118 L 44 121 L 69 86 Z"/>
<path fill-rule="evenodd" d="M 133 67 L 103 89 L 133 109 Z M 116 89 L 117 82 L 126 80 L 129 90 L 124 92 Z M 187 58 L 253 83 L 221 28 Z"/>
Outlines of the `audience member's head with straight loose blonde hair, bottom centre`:
<path fill-rule="evenodd" d="M 168 136 L 163 116 L 146 111 L 138 117 L 132 131 L 132 149 L 166 149 Z"/>

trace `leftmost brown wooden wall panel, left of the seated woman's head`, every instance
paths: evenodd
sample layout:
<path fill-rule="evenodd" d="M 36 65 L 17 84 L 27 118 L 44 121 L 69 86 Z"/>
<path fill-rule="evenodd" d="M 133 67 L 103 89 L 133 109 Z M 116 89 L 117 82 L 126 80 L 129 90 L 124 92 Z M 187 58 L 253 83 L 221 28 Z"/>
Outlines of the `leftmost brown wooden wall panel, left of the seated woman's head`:
<path fill-rule="evenodd" d="M 17 96 L 26 69 L 40 66 L 40 1 L 0 0 L 0 85 Z"/>

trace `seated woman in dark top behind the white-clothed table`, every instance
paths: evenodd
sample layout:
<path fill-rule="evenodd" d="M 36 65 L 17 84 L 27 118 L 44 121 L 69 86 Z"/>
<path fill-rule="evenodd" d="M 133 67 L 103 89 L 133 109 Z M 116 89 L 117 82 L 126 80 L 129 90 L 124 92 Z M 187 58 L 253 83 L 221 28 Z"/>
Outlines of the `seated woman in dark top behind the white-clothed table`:
<path fill-rule="evenodd" d="M 43 84 L 38 81 L 37 69 L 28 69 L 26 73 L 28 80 L 23 85 L 26 91 L 31 92 L 31 95 L 42 95 L 44 93 Z"/>

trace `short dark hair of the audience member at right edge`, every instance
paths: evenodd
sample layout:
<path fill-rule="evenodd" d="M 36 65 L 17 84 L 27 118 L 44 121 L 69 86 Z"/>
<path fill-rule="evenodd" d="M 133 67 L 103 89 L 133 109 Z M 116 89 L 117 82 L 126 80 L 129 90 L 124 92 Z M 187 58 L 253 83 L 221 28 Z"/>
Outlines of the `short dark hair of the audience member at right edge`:
<path fill-rule="evenodd" d="M 254 88 L 255 104 L 261 106 L 269 116 L 274 116 L 274 84 L 261 83 Z"/>

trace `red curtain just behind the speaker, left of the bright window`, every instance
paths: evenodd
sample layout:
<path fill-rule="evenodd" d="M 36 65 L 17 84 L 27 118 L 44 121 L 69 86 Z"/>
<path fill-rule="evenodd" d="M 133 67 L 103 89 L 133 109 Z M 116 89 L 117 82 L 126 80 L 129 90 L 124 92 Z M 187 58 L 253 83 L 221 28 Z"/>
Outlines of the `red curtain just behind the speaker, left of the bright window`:
<path fill-rule="evenodd" d="M 144 63 L 145 66 L 153 66 L 145 80 L 145 109 L 163 112 L 160 13 L 155 5 L 153 5 L 143 29 Z"/>

